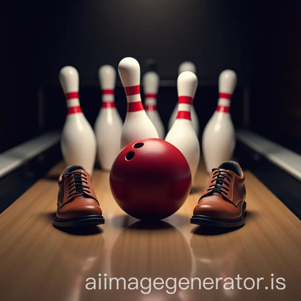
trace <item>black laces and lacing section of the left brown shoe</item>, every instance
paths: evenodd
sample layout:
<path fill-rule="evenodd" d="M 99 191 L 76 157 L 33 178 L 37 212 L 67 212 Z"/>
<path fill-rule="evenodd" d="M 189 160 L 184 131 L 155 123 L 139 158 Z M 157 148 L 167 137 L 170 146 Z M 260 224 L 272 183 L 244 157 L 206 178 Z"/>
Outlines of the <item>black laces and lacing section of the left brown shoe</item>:
<path fill-rule="evenodd" d="M 85 185 L 89 185 L 89 183 L 88 179 L 86 178 L 87 175 L 85 175 L 83 172 L 68 172 L 65 175 L 67 175 L 67 187 L 69 190 L 67 199 L 83 192 L 91 193 L 91 191 L 89 191 L 91 188 Z M 73 181 L 70 182 L 71 180 Z"/>

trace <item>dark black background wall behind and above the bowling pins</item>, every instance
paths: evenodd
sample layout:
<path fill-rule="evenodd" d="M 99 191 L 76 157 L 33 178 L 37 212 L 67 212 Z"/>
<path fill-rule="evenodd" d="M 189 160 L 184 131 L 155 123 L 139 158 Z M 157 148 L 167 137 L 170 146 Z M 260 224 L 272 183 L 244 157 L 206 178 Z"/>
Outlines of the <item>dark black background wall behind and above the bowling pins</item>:
<path fill-rule="evenodd" d="M 93 126 L 101 102 L 98 68 L 111 64 L 117 69 L 123 57 L 132 56 L 140 62 L 141 76 L 151 58 L 160 78 L 173 80 L 158 94 L 165 125 L 177 101 L 178 66 L 189 60 L 199 79 L 194 106 L 200 131 L 217 104 L 219 73 L 229 68 L 238 76 L 231 104 L 236 128 L 253 130 L 300 152 L 300 5 L 268 3 L 2 3 L 0 151 L 61 129 L 66 104 L 58 73 L 65 65 L 79 71 L 82 110 Z M 116 106 L 124 119 L 126 98 L 119 78 Z"/>

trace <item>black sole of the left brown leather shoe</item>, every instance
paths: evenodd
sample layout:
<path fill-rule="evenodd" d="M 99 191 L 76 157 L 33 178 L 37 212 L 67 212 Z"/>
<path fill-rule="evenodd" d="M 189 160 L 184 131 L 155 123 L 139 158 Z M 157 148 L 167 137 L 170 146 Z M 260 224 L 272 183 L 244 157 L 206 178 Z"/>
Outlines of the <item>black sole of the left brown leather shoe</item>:
<path fill-rule="evenodd" d="M 85 225 L 102 225 L 104 224 L 104 218 L 101 215 L 86 215 L 73 217 L 71 219 L 58 219 L 54 217 L 53 224 L 56 227 L 79 227 Z"/>

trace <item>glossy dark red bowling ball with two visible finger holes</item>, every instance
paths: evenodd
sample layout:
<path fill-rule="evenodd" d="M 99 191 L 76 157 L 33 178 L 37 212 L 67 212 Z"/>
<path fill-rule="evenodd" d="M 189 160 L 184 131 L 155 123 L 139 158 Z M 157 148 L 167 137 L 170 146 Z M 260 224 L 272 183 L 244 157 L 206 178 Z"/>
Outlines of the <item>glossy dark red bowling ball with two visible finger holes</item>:
<path fill-rule="evenodd" d="M 191 172 L 183 154 L 155 138 L 124 147 L 110 171 L 116 203 L 141 220 L 164 219 L 181 208 L 191 188 Z"/>

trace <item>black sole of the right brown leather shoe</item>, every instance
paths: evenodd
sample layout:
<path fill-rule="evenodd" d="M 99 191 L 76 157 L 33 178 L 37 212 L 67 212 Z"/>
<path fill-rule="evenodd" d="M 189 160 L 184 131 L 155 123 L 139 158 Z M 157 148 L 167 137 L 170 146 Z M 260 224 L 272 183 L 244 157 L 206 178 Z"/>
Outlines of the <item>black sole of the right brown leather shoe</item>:
<path fill-rule="evenodd" d="M 247 203 L 243 203 L 242 215 L 239 219 L 219 219 L 216 217 L 205 216 L 205 215 L 194 215 L 190 219 L 191 224 L 200 226 L 212 226 L 220 228 L 235 228 L 244 225 L 244 217 L 247 213 L 246 211 Z"/>

